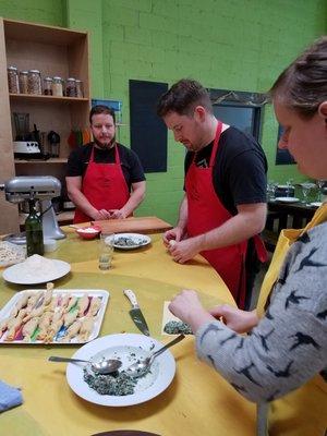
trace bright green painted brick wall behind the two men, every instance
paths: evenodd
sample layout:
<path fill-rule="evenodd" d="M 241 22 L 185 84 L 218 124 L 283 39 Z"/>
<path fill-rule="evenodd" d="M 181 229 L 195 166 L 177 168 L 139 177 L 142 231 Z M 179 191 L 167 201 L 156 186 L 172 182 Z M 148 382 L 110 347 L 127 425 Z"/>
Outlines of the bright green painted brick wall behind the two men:
<path fill-rule="evenodd" d="M 194 77 L 205 86 L 265 92 L 279 72 L 326 33 L 326 0 L 0 0 L 0 15 L 90 33 L 92 90 L 121 99 L 129 124 L 129 80 Z M 277 122 L 266 107 L 262 143 L 269 178 L 303 180 L 295 166 L 275 166 Z M 120 141 L 130 144 L 129 126 Z M 137 214 L 175 221 L 184 149 L 171 134 L 168 172 L 147 174 Z"/>

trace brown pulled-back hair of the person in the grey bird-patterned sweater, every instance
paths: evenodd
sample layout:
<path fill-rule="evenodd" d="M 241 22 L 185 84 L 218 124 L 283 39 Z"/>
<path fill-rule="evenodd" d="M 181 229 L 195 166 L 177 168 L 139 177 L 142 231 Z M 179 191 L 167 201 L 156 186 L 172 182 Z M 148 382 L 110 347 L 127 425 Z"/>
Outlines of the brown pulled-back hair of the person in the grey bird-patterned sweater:
<path fill-rule="evenodd" d="M 303 118 L 312 118 L 327 100 L 327 37 L 317 39 L 277 78 L 270 89 Z"/>

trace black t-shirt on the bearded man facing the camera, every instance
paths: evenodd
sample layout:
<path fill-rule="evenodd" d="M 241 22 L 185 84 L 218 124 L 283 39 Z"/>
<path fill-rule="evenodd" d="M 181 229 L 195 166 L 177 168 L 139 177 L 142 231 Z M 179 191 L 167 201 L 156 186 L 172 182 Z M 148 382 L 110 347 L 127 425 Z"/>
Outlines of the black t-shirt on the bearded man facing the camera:
<path fill-rule="evenodd" d="M 66 177 L 84 177 L 94 143 L 82 145 L 74 149 L 68 159 Z M 144 171 L 136 153 L 121 144 L 117 144 L 121 168 L 131 190 L 132 183 L 145 180 Z M 100 149 L 94 147 L 94 161 L 96 164 L 114 164 L 114 147 Z"/>

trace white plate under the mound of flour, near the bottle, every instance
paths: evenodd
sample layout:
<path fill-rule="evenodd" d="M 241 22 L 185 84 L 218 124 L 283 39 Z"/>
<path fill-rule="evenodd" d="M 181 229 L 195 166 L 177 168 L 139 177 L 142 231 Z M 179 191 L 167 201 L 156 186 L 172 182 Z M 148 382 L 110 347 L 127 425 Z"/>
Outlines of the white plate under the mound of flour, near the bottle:
<path fill-rule="evenodd" d="M 23 265 L 24 263 L 10 266 L 4 269 L 2 277 L 4 280 L 10 281 L 15 284 L 38 284 L 45 283 L 46 281 L 52 281 L 60 279 L 60 277 L 65 276 L 71 270 L 71 265 L 63 261 L 51 259 L 53 262 L 53 267 L 56 272 L 41 274 L 38 271 L 38 276 L 26 276 L 26 269 Z"/>

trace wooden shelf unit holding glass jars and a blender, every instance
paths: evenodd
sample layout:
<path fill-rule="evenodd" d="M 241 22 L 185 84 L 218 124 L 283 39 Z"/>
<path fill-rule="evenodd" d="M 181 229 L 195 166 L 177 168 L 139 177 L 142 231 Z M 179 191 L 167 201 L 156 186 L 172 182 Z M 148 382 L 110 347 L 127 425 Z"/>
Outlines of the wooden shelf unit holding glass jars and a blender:
<path fill-rule="evenodd" d="M 10 94 L 7 68 L 39 70 L 41 77 L 75 77 L 83 81 L 84 98 Z M 0 183 L 14 175 L 55 175 L 64 183 L 72 130 L 88 126 L 90 109 L 88 34 L 66 28 L 24 23 L 0 17 Z M 60 135 L 60 157 L 49 160 L 19 160 L 13 155 L 13 112 L 29 113 L 29 130 Z M 55 165 L 56 164 L 56 165 Z M 17 231 L 17 206 L 0 193 L 0 233 Z"/>

